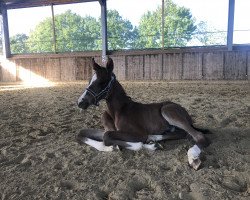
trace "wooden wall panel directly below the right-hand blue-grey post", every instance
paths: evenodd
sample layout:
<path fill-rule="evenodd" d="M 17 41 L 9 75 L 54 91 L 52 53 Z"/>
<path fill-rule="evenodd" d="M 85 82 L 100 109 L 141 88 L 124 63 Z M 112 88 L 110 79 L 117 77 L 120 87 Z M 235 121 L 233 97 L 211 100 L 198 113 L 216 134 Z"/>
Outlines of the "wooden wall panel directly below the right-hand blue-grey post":
<path fill-rule="evenodd" d="M 244 80 L 247 71 L 246 52 L 225 52 L 224 74 L 227 80 Z"/>

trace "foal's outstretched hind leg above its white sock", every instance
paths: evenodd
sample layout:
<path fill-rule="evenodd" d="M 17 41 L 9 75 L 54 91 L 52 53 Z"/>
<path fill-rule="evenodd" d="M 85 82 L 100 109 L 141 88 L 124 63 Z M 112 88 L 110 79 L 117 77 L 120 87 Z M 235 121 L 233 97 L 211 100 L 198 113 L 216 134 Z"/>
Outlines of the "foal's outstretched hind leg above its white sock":
<path fill-rule="evenodd" d="M 181 106 L 174 103 L 164 105 L 161 108 L 161 114 L 170 125 L 181 128 L 191 135 L 199 147 L 207 147 L 209 145 L 208 139 L 200 131 L 193 128 L 190 115 Z"/>

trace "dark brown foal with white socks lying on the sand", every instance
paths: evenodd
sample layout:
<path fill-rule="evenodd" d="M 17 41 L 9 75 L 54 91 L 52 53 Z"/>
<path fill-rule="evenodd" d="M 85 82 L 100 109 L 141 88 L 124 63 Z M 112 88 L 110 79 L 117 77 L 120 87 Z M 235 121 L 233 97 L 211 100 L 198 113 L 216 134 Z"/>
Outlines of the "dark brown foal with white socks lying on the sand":
<path fill-rule="evenodd" d="M 193 126 L 192 119 L 180 105 L 166 101 L 142 104 L 127 96 L 113 73 L 113 60 L 108 59 L 106 67 L 99 66 L 92 59 L 93 75 L 88 87 L 78 99 L 78 107 L 87 109 L 106 100 L 107 110 L 103 113 L 103 130 L 83 129 L 77 140 L 93 146 L 99 151 L 114 148 L 155 150 L 157 141 L 182 139 L 189 136 L 195 145 L 188 151 L 190 166 L 198 169 L 201 149 L 209 145 L 209 140 L 201 129 Z"/>

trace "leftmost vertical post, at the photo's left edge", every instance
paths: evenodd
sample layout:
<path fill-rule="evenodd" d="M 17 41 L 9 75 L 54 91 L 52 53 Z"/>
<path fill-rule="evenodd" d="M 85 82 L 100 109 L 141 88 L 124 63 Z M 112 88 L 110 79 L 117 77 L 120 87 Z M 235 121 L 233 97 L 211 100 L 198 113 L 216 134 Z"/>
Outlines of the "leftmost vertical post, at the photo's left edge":
<path fill-rule="evenodd" d="M 8 24 L 8 14 L 7 8 L 3 1 L 1 1 L 1 12 L 3 19 L 3 54 L 6 58 L 9 58 L 11 55 L 10 52 L 10 36 L 9 36 L 9 24 Z"/>

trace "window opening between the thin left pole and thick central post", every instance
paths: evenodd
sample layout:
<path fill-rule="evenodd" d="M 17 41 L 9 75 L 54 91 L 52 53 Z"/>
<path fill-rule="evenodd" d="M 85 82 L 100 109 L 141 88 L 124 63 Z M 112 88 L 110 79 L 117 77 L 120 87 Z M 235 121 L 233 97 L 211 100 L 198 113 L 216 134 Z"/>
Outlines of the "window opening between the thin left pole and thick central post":
<path fill-rule="evenodd" d="M 100 50 L 99 2 L 54 6 L 57 52 Z"/>

